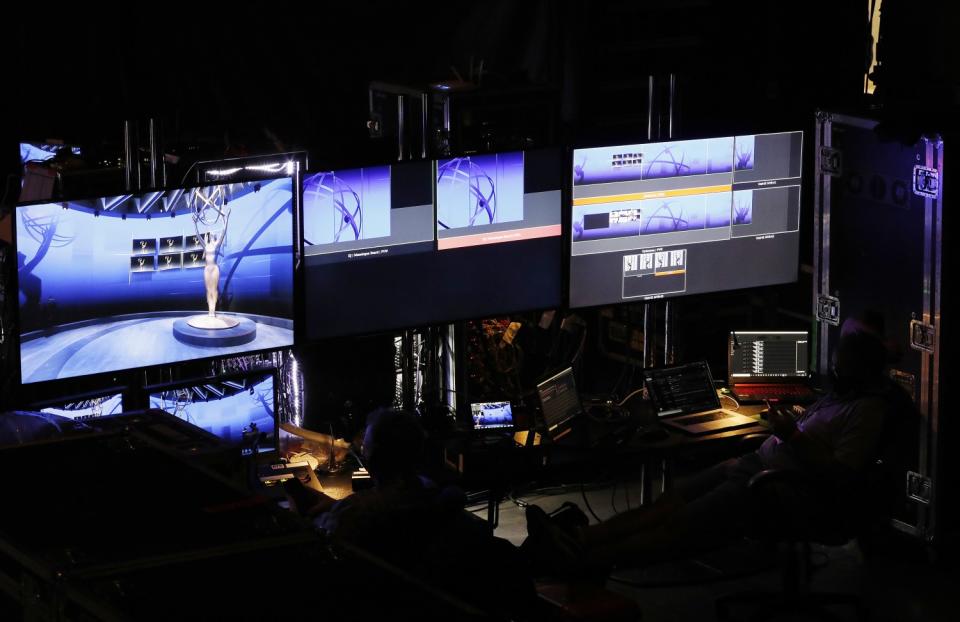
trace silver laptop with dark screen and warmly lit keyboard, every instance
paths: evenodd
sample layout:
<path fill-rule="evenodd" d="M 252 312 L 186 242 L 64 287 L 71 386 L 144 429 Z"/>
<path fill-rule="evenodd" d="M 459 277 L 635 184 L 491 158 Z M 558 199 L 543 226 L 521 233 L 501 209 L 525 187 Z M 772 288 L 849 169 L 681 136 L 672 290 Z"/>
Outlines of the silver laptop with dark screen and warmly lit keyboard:
<path fill-rule="evenodd" d="M 757 424 L 755 419 L 720 407 L 706 361 L 647 369 L 643 383 L 661 423 L 687 434 Z"/>

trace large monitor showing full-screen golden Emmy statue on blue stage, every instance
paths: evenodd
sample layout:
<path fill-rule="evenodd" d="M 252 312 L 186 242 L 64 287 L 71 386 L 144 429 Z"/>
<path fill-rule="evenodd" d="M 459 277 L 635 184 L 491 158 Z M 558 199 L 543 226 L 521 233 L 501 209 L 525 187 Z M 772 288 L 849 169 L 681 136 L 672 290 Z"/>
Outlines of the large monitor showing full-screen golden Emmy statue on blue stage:
<path fill-rule="evenodd" d="M 16 210 L 23 383 L 293 345 L 293 181 Z"/>

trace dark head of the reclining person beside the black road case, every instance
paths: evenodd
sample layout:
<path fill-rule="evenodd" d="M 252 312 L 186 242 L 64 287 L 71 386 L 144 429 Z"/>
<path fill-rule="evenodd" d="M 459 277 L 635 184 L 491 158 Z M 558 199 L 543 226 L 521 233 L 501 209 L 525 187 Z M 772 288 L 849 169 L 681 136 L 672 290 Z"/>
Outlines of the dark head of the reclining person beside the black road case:
<path fill-rule="evenodd" d="M 875 382 L 883 377 L 888 358 L 883 338 L 869 324 L 849 318 L 840 328 L 840 342 L 833 353 L 833 376 L 844 391 Z"/>

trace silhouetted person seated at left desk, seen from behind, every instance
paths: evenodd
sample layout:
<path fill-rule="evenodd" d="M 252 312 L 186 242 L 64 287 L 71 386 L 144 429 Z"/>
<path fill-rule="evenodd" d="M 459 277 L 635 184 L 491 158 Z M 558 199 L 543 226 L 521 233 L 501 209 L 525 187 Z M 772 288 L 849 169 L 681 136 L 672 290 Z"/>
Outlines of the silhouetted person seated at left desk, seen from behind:
<path fill-rule="evenodd" d="M 336 501 L 288 485 L 300 513 L 331 537 L 373 553 L 482 610 L 523 614 L 535 601 L 522 557 L 463 509 L 459 490 L 420 475 L 424 433 L 416 416 L 379 410 L 361 452 L 373 488 Z"/>

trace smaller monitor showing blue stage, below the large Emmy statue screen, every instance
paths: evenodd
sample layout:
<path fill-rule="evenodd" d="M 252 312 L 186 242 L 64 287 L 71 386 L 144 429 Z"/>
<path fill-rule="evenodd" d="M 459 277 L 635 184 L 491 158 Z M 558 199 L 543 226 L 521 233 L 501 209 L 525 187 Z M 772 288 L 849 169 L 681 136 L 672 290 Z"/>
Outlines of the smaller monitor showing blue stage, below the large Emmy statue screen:
<path fill-rule="evenodd" d="M 262 435 L 259 453 L 276 451 L 276 385 L 273 370 L 148 387 L 150 408 L 158 408 L 203 428 L 230 445 L 241 446 L 244 433 Z"/>

